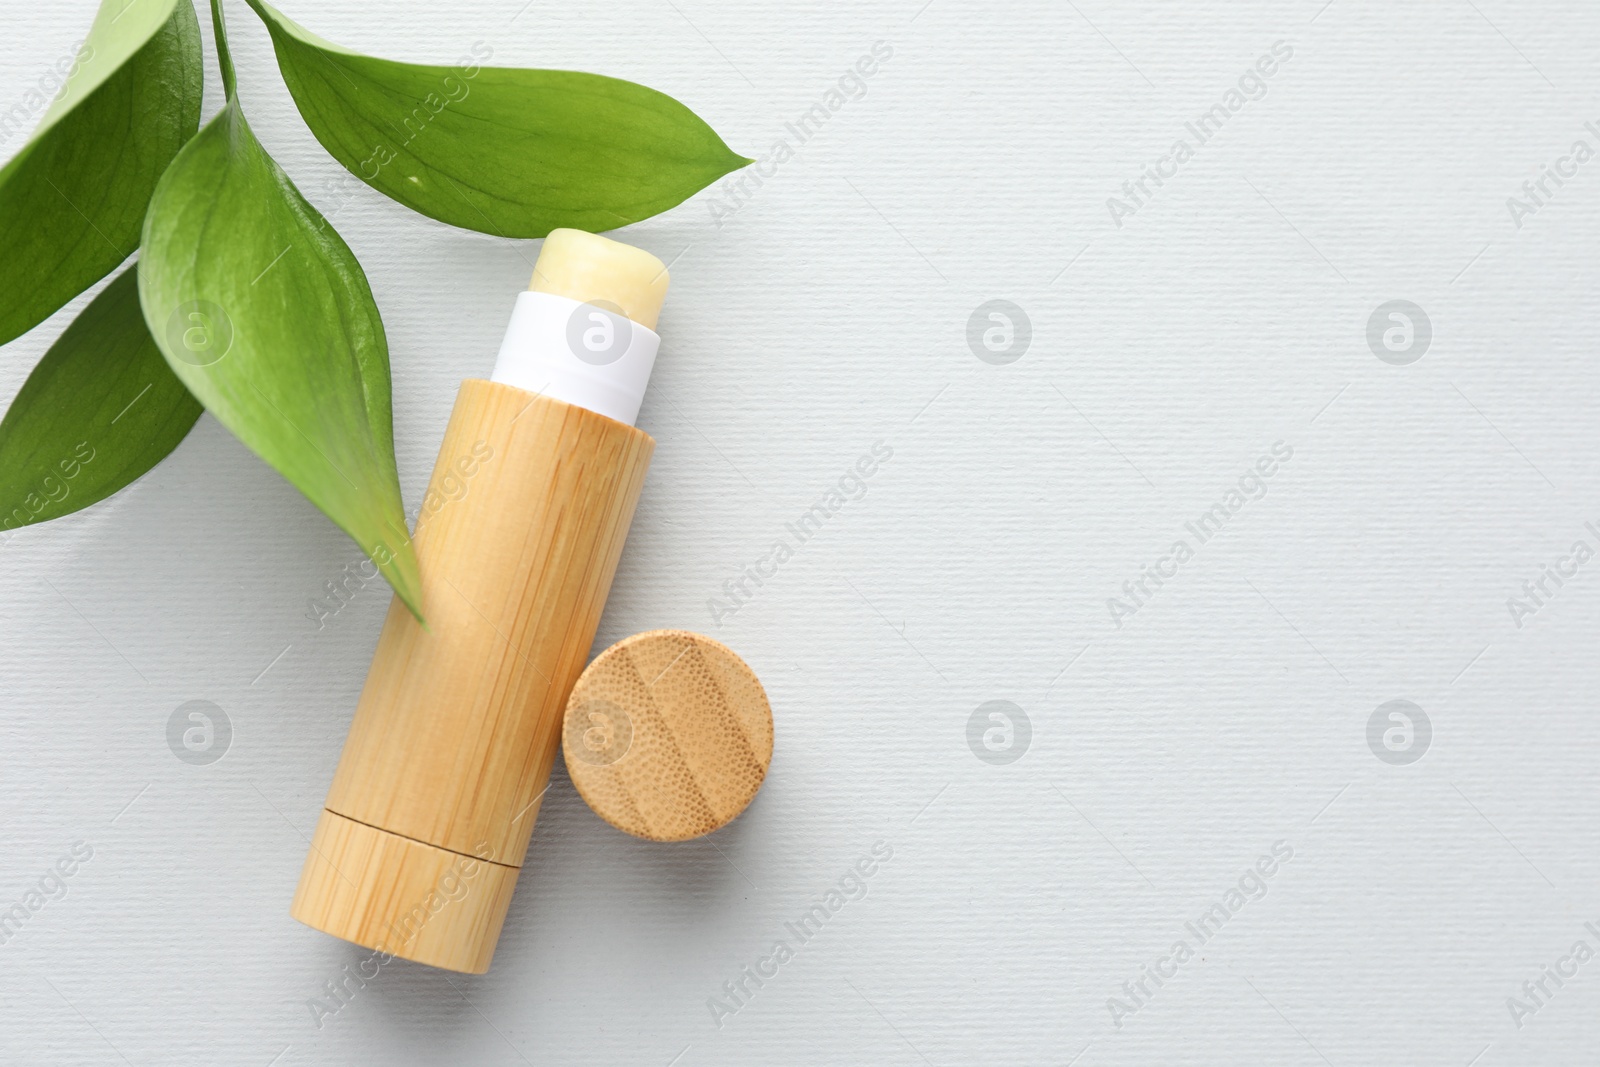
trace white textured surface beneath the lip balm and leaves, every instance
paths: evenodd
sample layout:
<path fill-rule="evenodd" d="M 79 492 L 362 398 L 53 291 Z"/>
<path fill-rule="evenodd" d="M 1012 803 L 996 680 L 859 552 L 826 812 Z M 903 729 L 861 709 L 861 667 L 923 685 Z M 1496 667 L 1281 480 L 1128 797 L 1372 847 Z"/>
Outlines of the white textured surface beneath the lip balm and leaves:
<path fill-rule="evenodd" d="M 96 5 L 8 6 L 0 106 Z M 0 550 L 0 907 L 93 846 L 0 947 L 0 1061 L 1600 1057 L 1600 961 L 1546 979 L 1520 1027 L 1507 1008 L 1579 939 L 1600 952 L 1600 561 L 1522 627 L 1507 608 L 1597 547 L 1600 160 L 1520 227 L 1506 203 L 1574 139 L 1600 149 L 1597 8 L 283 8 L 397 59 L 482 40 L 629 77 L 749 155 L 893 48 L 723 226 L 707 190 L 621 234 L 674 288 L 600 641 L 690 627 L 746 656 L 771 776 L 715 837 L 646 845 L 557 771 L 494 969 L 395 961 L 317 1025 L 309 1001 L 366 953 L 288 902 L 389 593 L 317 630 L 307 600 L 355 547 L 202 418 L 133 488 Z M 366 187 L 341 206 L 266 32 L 227 10 L 254 130 L 371 278 L 414 506 L 538 243 Z M 1115 226 L 1107 198 L 1275 42 L 1269 93 Z M 1032 323 L 1010 365 L 966 339 L 990 299 Z M 1366 341 L 1392 299 L 1432 322 L 1405 366 Z M 83 302 L 0 354 L 5 397 Z M 875 442 L 893 458 L 866 496 L 717 625 L 725 579 Z M 1198 545 L 1184 523 L 1275 442 L 1269 493 Z M 1178 537 L 1195 557 L 1114 625 L 1107 598 Z M 190 699 L 234 725 L 210 766 L 166 745 Z M 1366 739 L 1392 699 L 1432 723 L 1405 766 Z M 976 758 L 987 701 L 1026 713 L 1022 758 Z M 709 998 L 875 841 L 893 859 L 867 896 L 717 1025 Z M 1266 896 L 1114 1025 L 1107 1000 L 1275 841 L 1293 861 Z"/>

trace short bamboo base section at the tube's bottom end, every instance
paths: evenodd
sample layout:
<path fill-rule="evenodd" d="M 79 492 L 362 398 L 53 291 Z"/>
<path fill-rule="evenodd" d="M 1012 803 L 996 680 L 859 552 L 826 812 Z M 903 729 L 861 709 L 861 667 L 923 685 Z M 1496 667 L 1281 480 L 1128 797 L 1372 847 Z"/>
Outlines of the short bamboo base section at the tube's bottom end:
<path fill-rule="evenodd" d="M 389 955 L 483 974 L 517 875 L 323 811 L 290 915 Z"/>

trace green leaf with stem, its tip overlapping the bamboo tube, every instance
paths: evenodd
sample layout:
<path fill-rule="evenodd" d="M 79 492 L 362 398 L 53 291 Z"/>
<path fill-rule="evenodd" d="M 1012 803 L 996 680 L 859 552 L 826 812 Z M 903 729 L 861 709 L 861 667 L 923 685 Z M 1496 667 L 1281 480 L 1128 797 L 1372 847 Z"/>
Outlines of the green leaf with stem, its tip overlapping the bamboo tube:
<path fill-rule="evenodd" d="M 200 403 L 350 534 L 421 619 L 373 291 L 250 131 L 218 0 L 211 18 L 227 104 L 150 200 L 144 320 Z"/>

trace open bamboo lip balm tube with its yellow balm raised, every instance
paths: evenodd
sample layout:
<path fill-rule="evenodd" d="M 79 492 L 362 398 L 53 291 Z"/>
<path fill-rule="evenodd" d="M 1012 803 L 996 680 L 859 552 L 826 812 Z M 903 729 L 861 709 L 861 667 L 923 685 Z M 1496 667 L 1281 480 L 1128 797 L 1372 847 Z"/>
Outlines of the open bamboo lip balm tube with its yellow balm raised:
<path fill-rule="evenodd" d="M 554 230 L 490 381 L 467 379 L 290 913 L 482 974 L 654 440 L 634 427 L 667 269 Z"/>

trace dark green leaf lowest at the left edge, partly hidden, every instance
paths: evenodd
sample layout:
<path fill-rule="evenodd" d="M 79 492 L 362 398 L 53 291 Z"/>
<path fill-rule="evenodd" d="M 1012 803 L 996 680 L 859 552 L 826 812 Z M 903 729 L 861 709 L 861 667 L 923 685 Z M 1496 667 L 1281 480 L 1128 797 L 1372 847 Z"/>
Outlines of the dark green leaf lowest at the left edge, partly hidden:
<path fill-rule="evenodd" d="M 96 296 L 0 421 L 0 530 L 102 501 L 178 448 L 200 418 L 139 314 L 134 269 Z"/>

